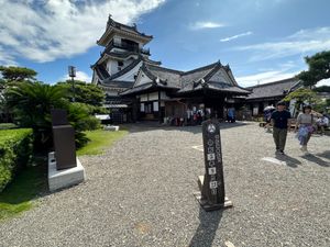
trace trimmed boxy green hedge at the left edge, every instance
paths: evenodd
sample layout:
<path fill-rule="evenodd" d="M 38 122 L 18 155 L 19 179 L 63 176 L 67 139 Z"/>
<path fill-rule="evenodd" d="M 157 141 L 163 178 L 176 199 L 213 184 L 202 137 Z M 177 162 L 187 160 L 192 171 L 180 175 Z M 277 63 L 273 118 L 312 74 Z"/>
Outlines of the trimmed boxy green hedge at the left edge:
<path fill-rule="evenodd" d="M 0 131 L 0 192 L 32 157 L 31 128 Z"/>

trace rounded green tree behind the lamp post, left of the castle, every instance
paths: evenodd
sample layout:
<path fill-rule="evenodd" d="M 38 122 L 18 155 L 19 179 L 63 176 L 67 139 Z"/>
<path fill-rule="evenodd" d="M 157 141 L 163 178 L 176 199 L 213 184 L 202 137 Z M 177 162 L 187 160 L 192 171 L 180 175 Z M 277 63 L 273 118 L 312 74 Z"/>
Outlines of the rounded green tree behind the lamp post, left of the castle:
<path fill-rule="evenodd" d="M 67 80 L 65 82 L 58 82 L 58 87 L 63 87 L 67 90 L 66 98 L 73 99 L 74 89 L 73 81 Z M 102 89 L 92 83 L 75 80 L 75 102 L 86 103 L 95 106 L 101 106 L 105 101 L 105 93 Z"/>

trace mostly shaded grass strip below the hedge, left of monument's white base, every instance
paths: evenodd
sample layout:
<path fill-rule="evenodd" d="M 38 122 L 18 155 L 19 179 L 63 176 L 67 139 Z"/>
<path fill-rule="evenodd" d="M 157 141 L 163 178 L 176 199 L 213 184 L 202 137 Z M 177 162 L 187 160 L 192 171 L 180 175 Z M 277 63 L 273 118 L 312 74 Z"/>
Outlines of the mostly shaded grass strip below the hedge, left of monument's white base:
<path fill-rule="evenodd" d="M 0 221 L 34 206 L 33 200 L 46 189 L 46 166 L 29 166 L 0 193 Z"/>

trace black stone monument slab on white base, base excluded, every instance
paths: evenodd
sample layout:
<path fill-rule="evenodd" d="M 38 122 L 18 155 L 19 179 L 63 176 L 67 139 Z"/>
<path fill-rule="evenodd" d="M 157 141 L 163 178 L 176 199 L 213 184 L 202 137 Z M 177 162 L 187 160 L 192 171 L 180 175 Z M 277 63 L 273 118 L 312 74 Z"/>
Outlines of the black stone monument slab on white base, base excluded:
<path fill-rule="evenodd" d="M 75 130 L 67 121 L 65 110 L 51 110 L 56 169 L 63 170 L 77 166 Z"/>

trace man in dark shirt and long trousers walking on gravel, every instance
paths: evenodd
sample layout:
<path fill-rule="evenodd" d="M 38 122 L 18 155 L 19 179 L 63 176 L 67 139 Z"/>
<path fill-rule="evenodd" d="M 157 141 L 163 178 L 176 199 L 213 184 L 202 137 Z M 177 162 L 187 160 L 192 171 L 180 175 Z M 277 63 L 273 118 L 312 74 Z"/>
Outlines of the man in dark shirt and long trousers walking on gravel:
<path fill-rule="evenodd" d="M 285 103 L 278 102 L 277 110 L 272 113 L 273 137 L 276 146 L 276 154 L 284 155 L 287 131 L 290 130 L 292 114 L 285 110 Z"/>

